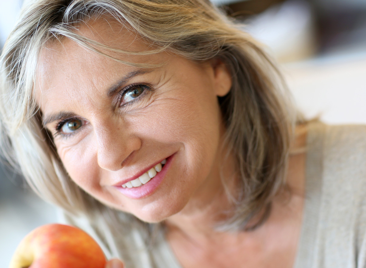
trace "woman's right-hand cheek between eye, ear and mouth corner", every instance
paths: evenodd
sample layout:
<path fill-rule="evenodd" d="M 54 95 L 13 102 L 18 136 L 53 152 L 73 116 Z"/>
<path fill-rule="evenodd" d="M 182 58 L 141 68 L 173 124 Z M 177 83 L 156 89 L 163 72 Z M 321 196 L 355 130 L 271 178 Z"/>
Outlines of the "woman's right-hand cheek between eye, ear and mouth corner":
<path fill-rule="evenodd" d="M 195 92 L 187 91 L 181 89 L 179 93 L 175 91 L 172 96 L 154 101 L 131 125 L 137 126 L 135 130 L 143 140 L 153 139 L 157 144 L 181 147 L 187 173 L 206 172 L 219 144 L 220 108 L 216 97 L 199 98 Z"/>

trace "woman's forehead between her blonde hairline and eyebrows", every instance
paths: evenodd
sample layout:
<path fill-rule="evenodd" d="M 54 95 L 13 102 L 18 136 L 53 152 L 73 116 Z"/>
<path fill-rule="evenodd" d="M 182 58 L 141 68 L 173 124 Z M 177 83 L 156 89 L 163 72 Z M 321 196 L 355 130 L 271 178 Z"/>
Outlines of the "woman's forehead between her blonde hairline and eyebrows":
<path fill-rule="evenodd" d="M 102 45 L 123 51 L 143 52 L 151 49 L 149 44 L 130 27 L 121 25 L 114 19 L 90 19 L 79 25 L 77 33 Z M 115 79 L 113 71 L 116 69 L 126 73 L 138 70 L 136 67 L 122 64 L 110 57 L 145 64 L 159 64 L 162 60 L 161 55 L 133 55 L 95 48 L 109 57 L 86 49 L 66 37 L 49 41 L 41 49 L 38 59 L 36 101 L 41 104 L 41 99 L 47 97 L 52 89 L 60 89 L 60 85 L 64 85 L 63 90 L 72 92 L 75 87 L 84 82 L 92 81 L 98 84 L 101 81 L 108 82 L 108 79 Z"/>

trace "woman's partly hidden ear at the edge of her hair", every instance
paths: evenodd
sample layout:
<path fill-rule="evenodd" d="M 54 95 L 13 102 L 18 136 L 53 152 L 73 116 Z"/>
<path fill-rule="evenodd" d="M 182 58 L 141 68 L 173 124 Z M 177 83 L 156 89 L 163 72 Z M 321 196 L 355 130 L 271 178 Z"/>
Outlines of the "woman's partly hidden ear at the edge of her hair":
<path fill-rule="evenodd" d="M 215 94 L 218 97 L 223 97 L 228 94 L 231 89 L 231 73 L 226 64 L 219 58 L 212 59 L 211 66 L 214 72 Z"/>

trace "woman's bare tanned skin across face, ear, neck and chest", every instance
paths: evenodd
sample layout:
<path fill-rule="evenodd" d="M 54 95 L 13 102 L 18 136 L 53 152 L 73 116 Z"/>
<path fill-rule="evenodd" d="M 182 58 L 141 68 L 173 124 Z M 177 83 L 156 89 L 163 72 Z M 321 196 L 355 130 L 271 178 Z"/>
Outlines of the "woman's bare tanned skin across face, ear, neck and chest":
<path fill-rule="evenodd" d="M 147 48 L 139 36 L 104 19 L 90 21 L 79 33 L 116 48 Z M 237 234 L 215 231 L 215 223 L 232 207 L 220 165 L 229 190 L 235 193 L 236 185 L 234 161 L 223 159 L 225 129 L 217 101 L 231 87 L 225 64 L 217 59 L 198 63 L 169 52 L 107 53 L 163 65 L 148 70 L 127 66 L 67 39 L 50 42 L 40 55 L 36 99 L 44 119 L 63 112 L 82 123 L 66 136 L 55 131 L 60 120 L 46 124 L 72 180 L 108 206 L 147 222 L 164 221 L 167 240 L 183 267 L 292 267 L 302 221 L 305 154 L 290 158 L 287 183 L 293 195 L 273 202 L 264 225 Z M 108 96 L 108 89 L 130 72 L 139 74 Z M 121 103 L 118 91 L 136 84 L 152 90 L 132 104 Z M 293 149 L 305 141 L 306 129 L 301 129 Z M 129 198 L 113 186 L 172 155 L 162 183 L 148 196 Z"/>

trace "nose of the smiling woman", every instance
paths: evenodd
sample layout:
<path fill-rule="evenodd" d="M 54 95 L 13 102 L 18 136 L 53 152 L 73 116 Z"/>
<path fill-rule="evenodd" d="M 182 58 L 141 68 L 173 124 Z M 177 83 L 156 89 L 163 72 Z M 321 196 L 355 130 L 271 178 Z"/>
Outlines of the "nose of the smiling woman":
<path fill-rule="evenodd" d="M 121 127 L 120 123 L 104 122 L 95 127 L 98 165 L 109 171 L 123 167 L 128 157 L 141 147 L 141 140 Z"/>

